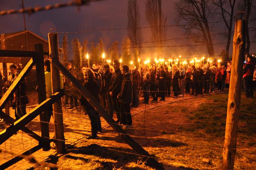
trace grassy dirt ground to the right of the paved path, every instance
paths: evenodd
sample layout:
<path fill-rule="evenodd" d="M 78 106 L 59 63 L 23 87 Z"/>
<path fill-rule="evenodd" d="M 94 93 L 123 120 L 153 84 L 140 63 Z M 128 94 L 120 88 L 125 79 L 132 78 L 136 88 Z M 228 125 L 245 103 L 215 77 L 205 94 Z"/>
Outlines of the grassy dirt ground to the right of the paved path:
<path fill-rule="evenodd" d="M 183 100 L 137 113 L 132 116 L 132 128 L 125 131 L 165 169 L 221 169 L 227 95 Z M 242 98 L 242 102 L 248 101 L 256 102 L 255 98 Z M 244 115 L 253 114 L 256 108 L 246 109 Z M 255 121 L 256 117 L 243 118 L 244 115 L 241 113 L 235 169 L 253 170 L 256 128 L 246 125 L 246 120 Z M 107 127 L 98 135 L 97 140 L 80 140 L 66 154 L 52 156 L 45 165 L 57 165 L 59 169 L 151 169 L 112 128 Z"/>

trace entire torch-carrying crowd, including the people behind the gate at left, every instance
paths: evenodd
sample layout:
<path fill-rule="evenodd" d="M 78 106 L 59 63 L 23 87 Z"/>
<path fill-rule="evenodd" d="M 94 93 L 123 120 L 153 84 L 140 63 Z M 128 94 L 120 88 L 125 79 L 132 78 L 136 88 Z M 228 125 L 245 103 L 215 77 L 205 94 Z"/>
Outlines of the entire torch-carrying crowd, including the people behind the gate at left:
<path fill-rule="evenodd" d="M 50 61 L 44 61 L 46 96 L 51 96 Z M 131 107 L 139 106 L 139 96 L 142 96 L 144 103 L 164 101 L 166 97 L 184 97 L 184 94 L 203 95 L 203 93 L 221 92 L 229 86 L 231 61 L 227 61 L 226 67 L 218 63 L 196 63 L 195 65 L 121 65 L 119 60 L 114 60 L 113 66 L 109 64 L 99 65 L 94 63 L 92 68 L 82 65 L 77 72 L 72 63 L 66 63 L 67 70 L 91 93 L 91 95 L 109 112 L 113 117 L 116 113 L 116 123 L 124 128 L 132 126 Z M 10 65 L 8 81 L 3 82 L 2 87 L 10 87 L 18 76 L 16 65 Z M 67 78 L 60 76 L 61 88 L 65 89 L 65 105 L 68 109 L 76 109 L 78 99 L 90 118 L 91 135 L 87 138 L 96 138 L 97 132 L 101 131 L 99 113 L 94 107 L 79 94 L 78 90 Z M 246 97 L 253 97 L 253 90 L 256 86 L 256 68 L 253 57 L 249 56 L 243 69 L 243 85 Z M 217 88 L 215 87 L 217 86 Z M 1 89 L 2 89 L 1 87 Z M 3 92 L 1 92 L 3 95 Z M 152 100 L 150 100 L 150 96 Z M 159 99 L 160 98 L 160 99 Z M 15 117 L 18 120 L 26 114 L 28 102 L 27 82 L 22 81 L 11 97 L 12 107 L 15 108 Z M 52 108 L 50 109 L 52 111 Z"/>

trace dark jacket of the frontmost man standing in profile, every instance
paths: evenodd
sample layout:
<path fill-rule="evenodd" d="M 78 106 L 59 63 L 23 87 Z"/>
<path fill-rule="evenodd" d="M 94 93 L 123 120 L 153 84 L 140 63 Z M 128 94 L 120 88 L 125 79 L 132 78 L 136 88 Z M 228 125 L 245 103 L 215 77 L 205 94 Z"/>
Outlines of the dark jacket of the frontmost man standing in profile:
<path fill-rule="evenodd" d="M 132 79 L 130 73 L 126 73 L 122 80 L 120 93 L 118 94 L 118 102 L 130 104 L 132 101 Z"/>

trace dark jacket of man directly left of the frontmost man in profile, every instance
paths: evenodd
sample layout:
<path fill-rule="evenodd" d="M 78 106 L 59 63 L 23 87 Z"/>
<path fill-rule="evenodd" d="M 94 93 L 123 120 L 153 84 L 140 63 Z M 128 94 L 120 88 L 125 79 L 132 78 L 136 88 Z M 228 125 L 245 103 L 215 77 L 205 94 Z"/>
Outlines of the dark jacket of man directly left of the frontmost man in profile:
<path fill-rule="evenodd" d="M 120 69 L 115 70 L 112 74 L 111 82 L 109 85 L 109 92 L 112 92 L 112 97 L 117 97 L 120 92 L 121 85 L 122 85 L 123 75 Z"/>

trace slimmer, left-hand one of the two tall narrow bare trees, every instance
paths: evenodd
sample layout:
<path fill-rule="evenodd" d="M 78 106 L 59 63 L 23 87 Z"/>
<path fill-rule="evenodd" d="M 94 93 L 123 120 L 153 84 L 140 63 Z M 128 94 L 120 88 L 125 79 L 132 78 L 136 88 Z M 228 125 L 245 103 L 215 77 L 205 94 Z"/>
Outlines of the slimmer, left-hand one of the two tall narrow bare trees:
<path fill-rule="evenodd" d="M 139 28 L 139 4 L 137 0 L 128 0 L 128 10 L 127 10 L 127 35 L 130 38 L 133 47 L 135 47 L 135 57 L 139 56 L 139 44 L 142 41 L 141 29 Z"/>

